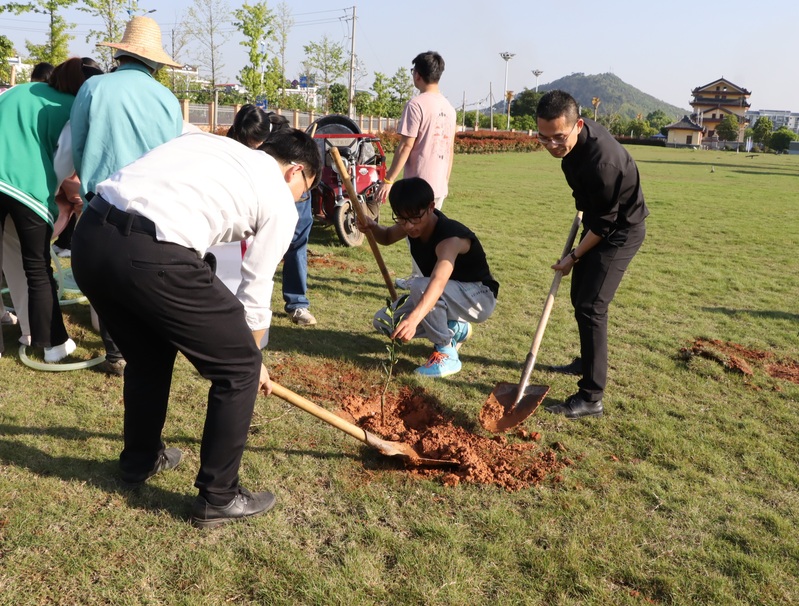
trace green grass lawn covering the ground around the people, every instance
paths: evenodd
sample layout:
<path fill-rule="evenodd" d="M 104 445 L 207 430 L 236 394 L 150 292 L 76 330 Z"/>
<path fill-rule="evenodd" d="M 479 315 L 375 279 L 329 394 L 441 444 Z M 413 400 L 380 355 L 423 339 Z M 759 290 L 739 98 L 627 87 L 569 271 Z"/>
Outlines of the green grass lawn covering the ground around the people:
<path fill-rule="evenodd" d="M 508 492 L 445 487 L 282 401 L 256 406 L 241 475 L 276 508 L 210 532 L 190 526 L 207 385 L 179 360 L 165 439 L 181 466 L 138 492 L 117 479 L 122 382 L 0 359 L 0 604 L 796 604 L 799 156 L 630 149 L 652 212 L 610 313 L 602 419 L 539 410 L 525 427 L 576 462 L 560 483 Z M 427 343 L 402 348 L 391 389 L 421 385 L 470 431 L 499 381 L 518 381 L 574 216 L 545 153 L 457 156 L 444 211 L 474 229 L 501 283 L 497 311 L 461 350 L 463 371 L 414 378 Z M 388 215 L 388 213 L 385 213 Z M 330 393 L 360 373 L 382 388 L 387 294 L 369 247 L 314 228 L 311 310 L 278 311 L 273 378 Z M 392 273 L 407 247 L 383 249 Z M 364 271 L 365 270 L 365 271 Z M 578 353 L 563 281 L 538 361 Z M 64 308 L 77 356 L 101 350 L 86 307 Z M 697 338 L 766 352 L 752 375 L 686 357 Z M 575 379 L 536 370 L 554 403 Z M 548 403 L 549 403 L 548 402 Z M 513 441 L 516 438 L 510 437 Z"/>

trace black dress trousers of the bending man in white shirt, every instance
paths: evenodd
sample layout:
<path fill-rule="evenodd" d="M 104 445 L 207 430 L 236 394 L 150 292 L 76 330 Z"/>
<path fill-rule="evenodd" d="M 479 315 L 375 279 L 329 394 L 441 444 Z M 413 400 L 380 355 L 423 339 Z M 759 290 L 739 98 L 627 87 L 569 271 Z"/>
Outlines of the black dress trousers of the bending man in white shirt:
<path fill-rule="evenodd" d="M 232 499 L 262 361 L 242 304 L 196 251 L 158 242 L 150 221 L 134 220 L 101 198 L 75 229 L 72 267 L 127 360 L 122 470 L 152 470 L 164 451 L 161 433 L 181 352 L 211 382 L 195 486 L 216 502 Z"/>

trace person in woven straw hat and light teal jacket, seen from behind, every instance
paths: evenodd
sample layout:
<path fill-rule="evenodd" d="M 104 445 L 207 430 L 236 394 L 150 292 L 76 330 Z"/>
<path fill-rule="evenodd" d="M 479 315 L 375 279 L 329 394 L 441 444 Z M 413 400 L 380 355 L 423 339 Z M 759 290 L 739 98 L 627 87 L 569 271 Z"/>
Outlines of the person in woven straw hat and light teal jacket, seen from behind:
<path fill-rule="evenodd" d="M 133 17 L 121 42 L 98 46 L 117 49 L 114 59 L 119 67 L 92 78 L 91 86 L 81 87 L 72 106 L 72 153 L 86 200 L 98 183 L 183 130 L 177 98 L 153 77 L 165 65 L 180 67 L 164 52 L 158 23 L 149 17 Z M 106 359 L 95 368 L 121 375 L 125 360 L 102 318 L 100 334 Z"/>

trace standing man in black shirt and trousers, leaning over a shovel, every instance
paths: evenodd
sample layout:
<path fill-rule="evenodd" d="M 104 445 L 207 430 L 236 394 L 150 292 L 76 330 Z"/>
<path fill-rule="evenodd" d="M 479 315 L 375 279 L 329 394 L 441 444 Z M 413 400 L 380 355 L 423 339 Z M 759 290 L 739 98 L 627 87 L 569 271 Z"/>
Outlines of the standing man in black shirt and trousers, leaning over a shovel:
<path fill-rule="evenodd" d="M 638 168 L 602 126 L 581 118 L 574 98 L 559 90 L 538 103 L 538 140 L 561 158 L 577 210 L 583 211 L 579 245 L 552 266 L 574 270 L 571 300 L 580 332 L 580 358 L 556 372 L 581 375 L 579 391 L 548 408 L 569 419 L 601 417 L 608 370 L 608 307 L 627 266 L 641 247 L 649 214 Z"/>

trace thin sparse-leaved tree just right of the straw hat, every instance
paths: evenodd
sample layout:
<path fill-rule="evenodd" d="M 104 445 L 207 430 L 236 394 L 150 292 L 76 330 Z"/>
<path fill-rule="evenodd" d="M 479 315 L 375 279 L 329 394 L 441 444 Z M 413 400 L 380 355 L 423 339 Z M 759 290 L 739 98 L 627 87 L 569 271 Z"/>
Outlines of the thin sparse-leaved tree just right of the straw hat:
<path fill-rule="evenodd" d="M 183 22 L 186 34 L 197 43 L 197 61 L 209 72 L 212 90 L 225 66 L 222 45 L 230 37 L 224 29 L 229 16 L 230 8 L 225 0 L 194 0 Z"/>

